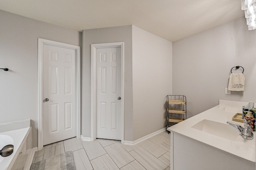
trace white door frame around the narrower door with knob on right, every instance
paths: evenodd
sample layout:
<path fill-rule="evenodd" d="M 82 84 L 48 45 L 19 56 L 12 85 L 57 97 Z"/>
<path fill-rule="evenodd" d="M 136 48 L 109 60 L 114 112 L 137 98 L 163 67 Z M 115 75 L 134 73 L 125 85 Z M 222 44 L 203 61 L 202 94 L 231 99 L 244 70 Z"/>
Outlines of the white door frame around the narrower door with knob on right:
<path fill-rule="evenodd" d="M 121 47 L 122 64 L 121 64 L 121 143 L 124 143 L 124 42 L 118 43 L 101 43 L 91 45 L 91 138 L 92 141 L 96 139 L 96 49 Z"/>

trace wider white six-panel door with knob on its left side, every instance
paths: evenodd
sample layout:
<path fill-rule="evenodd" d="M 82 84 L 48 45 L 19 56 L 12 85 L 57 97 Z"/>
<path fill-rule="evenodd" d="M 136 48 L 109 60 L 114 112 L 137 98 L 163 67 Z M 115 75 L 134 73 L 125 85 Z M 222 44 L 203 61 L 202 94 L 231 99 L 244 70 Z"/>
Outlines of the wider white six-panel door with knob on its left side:
<path fill-rule="evenodd" d="M 76 50 L 43 46 L 43 145 L 76 137 Z"/>

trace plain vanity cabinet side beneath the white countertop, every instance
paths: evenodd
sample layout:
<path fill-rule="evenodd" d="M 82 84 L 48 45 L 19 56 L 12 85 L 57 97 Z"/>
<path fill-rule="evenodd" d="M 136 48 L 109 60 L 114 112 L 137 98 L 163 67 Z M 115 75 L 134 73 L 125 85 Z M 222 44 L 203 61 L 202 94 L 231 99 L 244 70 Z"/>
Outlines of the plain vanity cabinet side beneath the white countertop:
<path fill-rule="evenodd" d="M 255 170 L 255 162 L 171 132 L 170 169 Z"/>

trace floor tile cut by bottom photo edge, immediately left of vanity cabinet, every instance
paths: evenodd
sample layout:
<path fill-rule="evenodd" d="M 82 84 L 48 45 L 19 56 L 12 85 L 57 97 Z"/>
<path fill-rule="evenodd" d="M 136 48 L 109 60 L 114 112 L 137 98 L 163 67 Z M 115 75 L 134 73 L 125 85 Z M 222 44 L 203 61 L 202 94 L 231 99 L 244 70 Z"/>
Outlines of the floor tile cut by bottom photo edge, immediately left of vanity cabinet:
<path fill-rule="evenodd" d="M 166 164 L 158 160 L 158 158 L 150 154 L 150 152 L 146 151 L 142 147 L 138 147 L 129 153 L 147 170 L 164 170 L 167 168 Z"/>

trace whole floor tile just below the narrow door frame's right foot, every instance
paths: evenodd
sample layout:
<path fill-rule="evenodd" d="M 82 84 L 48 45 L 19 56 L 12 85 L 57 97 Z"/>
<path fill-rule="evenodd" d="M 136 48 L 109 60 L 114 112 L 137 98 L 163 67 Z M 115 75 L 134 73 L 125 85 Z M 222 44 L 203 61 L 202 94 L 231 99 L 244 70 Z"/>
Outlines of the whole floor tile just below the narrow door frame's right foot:
<path fill-rule="evenodd" d="M 114 143 L 104 147 L 109 156 L 114 160 L 118 168 L 132 162 L 134 158 L 121 146 L 120 143 Z"/>

